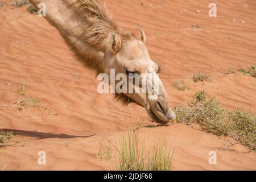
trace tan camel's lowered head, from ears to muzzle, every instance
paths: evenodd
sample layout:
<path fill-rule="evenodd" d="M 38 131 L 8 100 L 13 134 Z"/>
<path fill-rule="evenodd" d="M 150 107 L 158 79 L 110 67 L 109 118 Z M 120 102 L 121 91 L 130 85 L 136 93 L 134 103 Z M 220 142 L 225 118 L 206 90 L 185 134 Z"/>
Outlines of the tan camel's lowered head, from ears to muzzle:
<path fill-rule="evenodd" d="M 141 35 L 138 37 L 110 33 L 110 48 L 104 53 L 103 57 L 104 72 L 109 77 L 118 77 L 115 80 L 116 91 L 119 88 L 117 88 L 119 80 L 125 82 L 125 85 L 120 88 L 126 92 L 121 93 L 144 106 L 152 121 L 166 124 L 174 121 L 176 116 L 170 107 L 168 95 L 157 74 L 160 68 L 158 64 L 150 59 L 145 46 L 146 36 L 142 30 L 140 33 Z M 112 75 L 111 70 L 114 70 Z M 120 73 L 126 77 L 119 78 Z M 135 80 L 137 80 L 137 84 Z M 143 93 L 142 81 L 145 80 L 146 90 L 144 91 L 146 92 Z M 129 84 L 132 85 L 131 90 L 129 90 Z M 150 88 L 148 88 L 149 85 Z M 126 89 L 123 89 L 123 87 Z M 135 92 L 135 90 L 139 92 Z M 152 97 L 153 93 L 154 97 Z"/>

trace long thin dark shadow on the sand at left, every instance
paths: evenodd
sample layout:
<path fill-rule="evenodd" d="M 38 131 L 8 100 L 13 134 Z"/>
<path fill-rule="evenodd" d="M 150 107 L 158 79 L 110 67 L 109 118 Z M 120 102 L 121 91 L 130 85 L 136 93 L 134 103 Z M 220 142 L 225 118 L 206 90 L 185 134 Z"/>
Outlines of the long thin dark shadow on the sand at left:
<path fill-rule="evenodd" d="M 88 138 L 92 135 L 79 136 L 79 135 L 68 135 L 68 134 L 55 134 L 55 133 L 42 133 L 39 131 L 26 131 L 26 130 L 13 130 L 13 129 L 0 129 L 1 132 L 13 132 L 14 134 L 22 135 L 24 137 L 33 137 L 35 139 L 46 139 L 46 138 Z"/>

